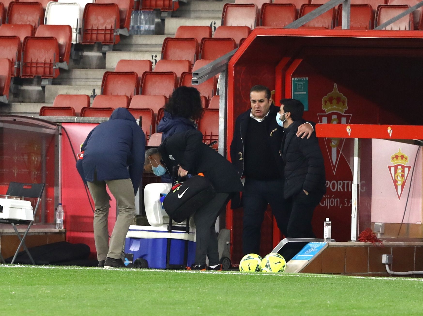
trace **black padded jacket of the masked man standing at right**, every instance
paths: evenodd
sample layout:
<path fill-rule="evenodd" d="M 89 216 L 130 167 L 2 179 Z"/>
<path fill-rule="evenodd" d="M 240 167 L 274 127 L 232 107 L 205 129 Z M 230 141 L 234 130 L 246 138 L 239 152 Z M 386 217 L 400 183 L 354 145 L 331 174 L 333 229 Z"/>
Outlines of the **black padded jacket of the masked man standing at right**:
<path fill-rule="evenodd" d="M 283 197 L 286 199 L 301 190 L 326 192 L 324 160 L 316 135 L 313 133 L 309 139 L 295 135 L 303 123 L 303 119 L 292 123 L 280 149 L 285 163 Z"/>

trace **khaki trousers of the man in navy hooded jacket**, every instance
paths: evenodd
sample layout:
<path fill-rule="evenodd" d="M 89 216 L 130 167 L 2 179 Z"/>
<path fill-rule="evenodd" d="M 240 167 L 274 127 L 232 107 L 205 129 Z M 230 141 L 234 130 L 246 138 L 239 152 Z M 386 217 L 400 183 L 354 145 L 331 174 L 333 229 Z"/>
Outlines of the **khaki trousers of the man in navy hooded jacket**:
<path fill-rule="evenodd" d="M 97 260 L 105 260 L 106 257 L 119 259 L 124 249 L 125 237 L 129 225 L 135 216 L 135 194 L 131 179 L 106 180 L 88 182 L 88 188 L 94 200 L 94 241 L 96 243 Z M 119 214 L 116 219 L 113 233 L 110 237 L 107 227 L 109 216 L 109 194 L 106 184 L 116 199 Z"/>

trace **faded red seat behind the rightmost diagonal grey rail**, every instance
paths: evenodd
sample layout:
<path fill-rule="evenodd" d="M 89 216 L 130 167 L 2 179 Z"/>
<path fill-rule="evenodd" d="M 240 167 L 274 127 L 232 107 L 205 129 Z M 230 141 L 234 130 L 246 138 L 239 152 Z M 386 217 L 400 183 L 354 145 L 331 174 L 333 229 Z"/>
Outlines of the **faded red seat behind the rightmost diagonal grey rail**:
<path fill-rule="evenodd" d="M 380 5 L 376 9 L 375 15 L 375 27 L 381 25 L 382 23 L 396 17 L 401 12 L 404 12 L 409 8 L 408 5 L 400 6 L 389 6 L 389 5 Z M 410 13 L 405 17 L 393 22 L 391 25 L 388 25 L 384 30 L 414 30 L 414 19 L 413 14 Z"/>

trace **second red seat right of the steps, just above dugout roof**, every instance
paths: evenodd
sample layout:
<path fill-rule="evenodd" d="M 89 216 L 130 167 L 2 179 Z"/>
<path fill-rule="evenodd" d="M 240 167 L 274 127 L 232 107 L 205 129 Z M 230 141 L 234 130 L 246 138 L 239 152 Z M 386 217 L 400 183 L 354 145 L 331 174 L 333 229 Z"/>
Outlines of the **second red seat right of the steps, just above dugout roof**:
<path fill-rule="evenodd" d="M 283 27 L 297 19 L 297 8 L 293 4 L 264 3 L 261 7 L 260 25 Z"/>

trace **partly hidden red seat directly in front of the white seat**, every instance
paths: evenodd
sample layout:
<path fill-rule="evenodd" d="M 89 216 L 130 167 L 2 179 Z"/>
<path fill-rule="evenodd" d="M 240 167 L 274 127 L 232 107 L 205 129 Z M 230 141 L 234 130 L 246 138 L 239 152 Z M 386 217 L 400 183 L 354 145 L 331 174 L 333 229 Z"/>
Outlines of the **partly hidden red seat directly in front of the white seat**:
<path fill-rule="evenodd" d="M 40 25 L 36 37 L 54 36 L 59 44 L 59 62 L 69 64 L 72 45 L 72 28 L 70 25 Z"/>

